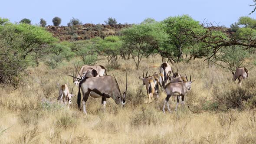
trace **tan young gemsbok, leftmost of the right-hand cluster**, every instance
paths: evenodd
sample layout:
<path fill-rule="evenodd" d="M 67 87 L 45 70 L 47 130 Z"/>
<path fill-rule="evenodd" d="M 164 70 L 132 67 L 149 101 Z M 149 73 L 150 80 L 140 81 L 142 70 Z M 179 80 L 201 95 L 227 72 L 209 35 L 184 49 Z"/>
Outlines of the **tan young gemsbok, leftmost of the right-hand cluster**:
<path fill-rule="evenodd" d="M 156 76 L 147 76 L 148 72 L 146 73 L 146 76 L 144 77 L 144 71 L 143 71 L 143 78 L 139 76 L 139 79 L 142 80 L 143 85 L 146 85 L 147 95 L 148 95 L 148 103 L 149 99 L 151 98 L 151 102 L 158 100 L 159 97 L 159 80 Z"/>

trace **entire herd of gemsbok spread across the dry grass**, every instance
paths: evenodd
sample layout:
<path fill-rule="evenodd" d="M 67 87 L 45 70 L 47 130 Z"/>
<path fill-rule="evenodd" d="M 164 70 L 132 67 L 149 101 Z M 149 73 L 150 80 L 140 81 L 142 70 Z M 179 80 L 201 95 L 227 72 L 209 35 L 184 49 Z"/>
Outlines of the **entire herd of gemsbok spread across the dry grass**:
<path fill-rule="evenodd" d="M 124 107 L 128 85 L 127 72 L 125 92 L 121 94 L 121 90 L 118 85 L 118 80 L 115 78 L 115 75 L 107 75 L 104 66 L 84 65 L 82 66 L 80 71 L 78 71 L 77 67 L 78 65 L 75 66 L 73 70 L 73 75 L 69 76 L 73 78 L 74 85 L 78 86 L 79 89 L 77 95 L 77 105 L 79 109 L 81 107 L 82 91 L 82 108 L 84 114 L 87 115 L 85 105 L 89 96 L 91 96 L 92 98 L 101 97 L 104 109 L 107 98 L 114 99 L 116 104 L 121 104 Z M 160 89 L 164 89 L 166 93 L 166 98 L 164 98 L 163 112 L 165 112 L 165 105 L 167 105 L 168 111 L 171 112 L 170 105 L 168 102 L 171 96 L 177 96 L 177 105 L 175 111 L 177 111 L 179 101 L 181 101 L 181 104 L 184 105 L 184 97 L 187 95 L 187 92 L 191 90 L 191 84 L 194 82 L 194 80 L 191 81 L 191 75 L 190 79 L 188 80 L 187 75 L 181 76 L 178 73 L 178 69 L 179 68 L 177 68 L 176 72 L 173 72 L 173 70 L 171 69 L 171 65 L 169 65 L 167 62 L 163 62 L 160 66 L 159 73 L 154 72 L 153 75 L 148 75 L 148 72 L 146 72 L 146 75 L 144 75 L 143 71 L 143 77 L 139 76 L 139 79 L 142 80 L 143 85 L 146 86 L 148 103 L 150 103 L 150 100 L 151 102 L 153 102 L 153 99 L 155 102 L 157 102 L 159 98 Z M 236 72 L 232 72 L 232 74 L 233 81 L 235 82 L 236 79 L 238 79 L 239 85 L 241 86 L 242 79 L 246 79 L 248 77 L 248 70 L 246 68 L 238 68 L 236 69 Z M 68 108 L 71 104 L 72 98 L 75 96 L 72 94 L 72 92 L 73 88 L 71 93 L 69 93 L 69 88 L 66 84 L 62 85 L 59 89 L 58 100 L 63 101 L 65 104 L 68 102 Z"/>

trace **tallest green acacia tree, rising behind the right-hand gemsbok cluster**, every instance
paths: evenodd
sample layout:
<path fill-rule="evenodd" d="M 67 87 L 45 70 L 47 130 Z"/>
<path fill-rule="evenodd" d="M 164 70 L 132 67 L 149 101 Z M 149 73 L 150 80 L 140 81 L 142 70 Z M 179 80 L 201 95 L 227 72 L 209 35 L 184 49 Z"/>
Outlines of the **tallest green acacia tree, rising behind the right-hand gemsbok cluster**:
<path fill-rule="evenodd" d="M 168 34 L 168 40 L 160 49 L 160 53 L 174 62 L 180 62 L 183 58 L 184 49 L 191 47 L 194 42 L 193 37 L 190 36 L 190 31 L 187 31 L 187 29 L 200 28 L 199 22 L 188 15 L 182 15 L 168 17 L 162 23 Z M 174 59 L 174 57 L 177 57 L 177 59 Z"/>

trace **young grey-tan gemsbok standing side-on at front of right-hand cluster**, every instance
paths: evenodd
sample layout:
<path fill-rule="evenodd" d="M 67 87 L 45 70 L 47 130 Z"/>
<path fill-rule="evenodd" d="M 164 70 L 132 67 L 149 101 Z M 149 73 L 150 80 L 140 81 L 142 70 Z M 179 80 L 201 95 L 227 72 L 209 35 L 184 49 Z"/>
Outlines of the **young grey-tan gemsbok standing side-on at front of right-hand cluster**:
<path fill-rule="evenodd" d="M 192 81 L 194 82 L 194 80 Z M 169 98 L 171 96 L 177 96 L 177 105 L 175 108 L 175 111 L 177 111 L 177 106 L 179 104 L 179 95 L 182 96 L 182 104 L 184 104 L 184 96 L 187 94 L 188 91 L 191 90 L 191 75 L 190 75 L 190 80 L 187 82 L 169 82 L 167 85 L 164 86 L 165 92 L 166 92 L 166 98 L 164 99 L 164 107 L 163 107 L 163 112 L 165 108 L 165 103 L 167 104 L 168 111 L 171 112 L 170 107 L 169 107 Z"/>

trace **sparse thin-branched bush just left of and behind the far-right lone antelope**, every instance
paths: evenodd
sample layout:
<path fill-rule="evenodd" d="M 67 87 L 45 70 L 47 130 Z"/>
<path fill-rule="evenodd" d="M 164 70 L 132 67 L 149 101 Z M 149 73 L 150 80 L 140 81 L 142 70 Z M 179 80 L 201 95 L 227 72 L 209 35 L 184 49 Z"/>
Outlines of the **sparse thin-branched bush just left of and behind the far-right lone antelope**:
<path fill-rule="evenodd" d="M 219 53 L 210 62 L 235 72 L 237 68 L 246 66 L 245 59 L 249 57 L 249 52 L 244 50 L 243 47 L 229 46 L 220 49 Z"/>

